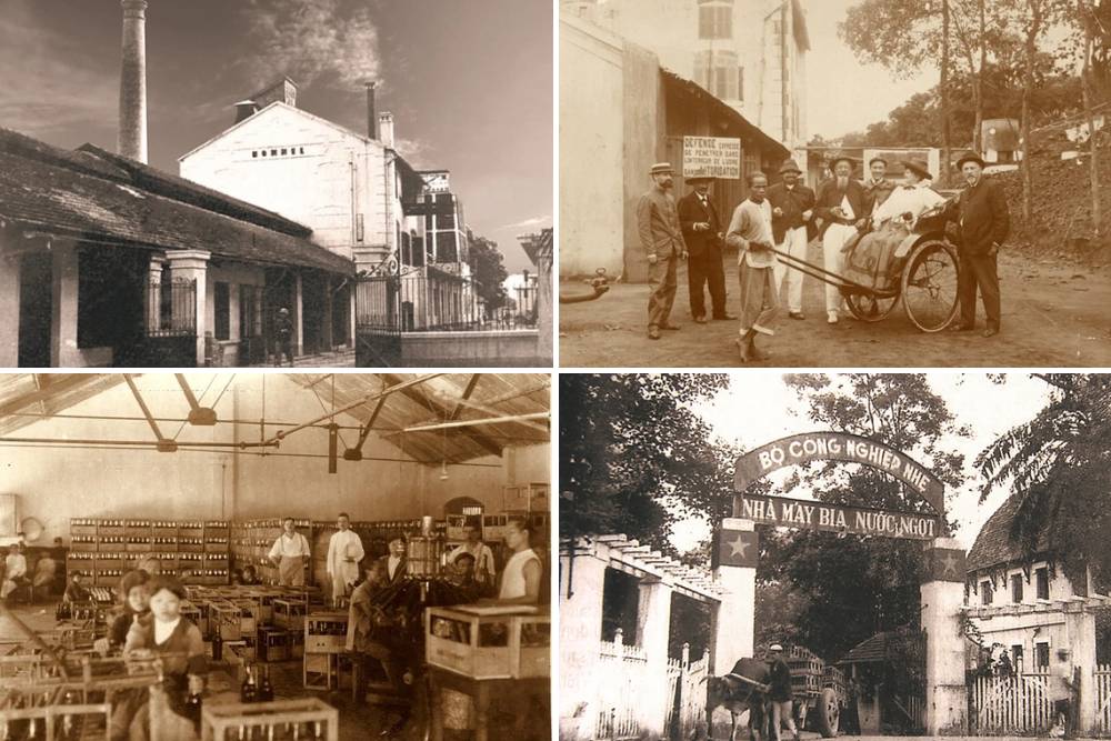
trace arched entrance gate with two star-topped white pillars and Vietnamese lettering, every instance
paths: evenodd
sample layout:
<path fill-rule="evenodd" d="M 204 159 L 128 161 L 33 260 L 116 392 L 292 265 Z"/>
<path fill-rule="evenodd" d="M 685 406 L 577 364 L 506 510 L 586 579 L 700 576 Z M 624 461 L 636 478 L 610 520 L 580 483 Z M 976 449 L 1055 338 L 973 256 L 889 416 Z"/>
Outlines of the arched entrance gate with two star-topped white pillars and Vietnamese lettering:
<path fill-rule="evenodd" d="M 900 512 L 829 504 L 787 497 L 745 494 L 769 473 L 811 461 L 859 463 L 902 481 L 933 510 Z M 733 475 L 733 517 L 717 535 L 715 581 L 724 597 L 714 627 L 713 671 L 723 674 L 753 652 L 757 524 L 921 540 L 928 568 L 921 584 L 925 633 L 925 731 L 965 729 L 964 550 L 944 531 L 944 484 L 927 468 L 875 440 L 844 432 L 810 432 L 774 440 L 739 457 Z"/>

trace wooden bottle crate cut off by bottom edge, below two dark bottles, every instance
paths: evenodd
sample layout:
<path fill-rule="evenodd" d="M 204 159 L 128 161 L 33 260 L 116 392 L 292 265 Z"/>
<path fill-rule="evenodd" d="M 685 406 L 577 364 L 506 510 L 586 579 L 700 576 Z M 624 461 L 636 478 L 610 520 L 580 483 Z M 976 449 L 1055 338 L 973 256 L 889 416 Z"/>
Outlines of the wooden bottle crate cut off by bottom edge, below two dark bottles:
<path fill-rule="evenodd" d="M 297 737 L 339 741 L 339 711 L 317 698 L 208 704 L 201 709 L 202 741 L 246 738 L 274 738 L 287 725 L 298 729 Z"/>

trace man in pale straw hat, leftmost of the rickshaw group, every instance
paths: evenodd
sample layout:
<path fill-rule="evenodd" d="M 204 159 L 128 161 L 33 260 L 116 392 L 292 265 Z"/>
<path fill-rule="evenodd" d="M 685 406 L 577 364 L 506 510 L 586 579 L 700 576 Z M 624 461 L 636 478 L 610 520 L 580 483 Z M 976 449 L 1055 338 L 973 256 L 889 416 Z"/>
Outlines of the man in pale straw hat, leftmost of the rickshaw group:
<path fill-rule="evenodd" d="M 660 339 L 661 329 L 679 329 L 668 321 L 675 301 L 675 267 L 687 258 L 687 242 L 679 224 L 674 171 L 670 162 L 657 162 L 649 170 L 652 188 L 637 204 L 637 232 L 648 259 L 648 338 Z"/>

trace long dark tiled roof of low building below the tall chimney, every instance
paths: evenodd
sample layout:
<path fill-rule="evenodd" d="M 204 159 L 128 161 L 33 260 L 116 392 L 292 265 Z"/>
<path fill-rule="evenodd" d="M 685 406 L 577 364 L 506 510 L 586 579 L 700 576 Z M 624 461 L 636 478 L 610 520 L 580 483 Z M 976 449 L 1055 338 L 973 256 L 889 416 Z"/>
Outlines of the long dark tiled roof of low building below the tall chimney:
<path fill-rule="evenodd" d="M 54 234 L 352 274 L 300 224 L 94 147 L 67 151 L 0 129 L 0 218 Z"/>

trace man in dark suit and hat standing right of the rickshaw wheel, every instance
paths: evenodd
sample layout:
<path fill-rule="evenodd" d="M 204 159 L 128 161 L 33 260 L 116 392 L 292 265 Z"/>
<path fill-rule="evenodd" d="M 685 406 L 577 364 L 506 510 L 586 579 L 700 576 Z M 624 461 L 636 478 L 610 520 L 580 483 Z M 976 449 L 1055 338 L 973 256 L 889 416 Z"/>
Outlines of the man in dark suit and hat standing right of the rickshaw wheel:
<path fill-rule="evenodd" d="M 957 222 L 960 273 L 957 293 L 961 301 L 961 320 L 954 331 L 975 329 L 977 289 L 988 316 L 984 337 L 999 333 L 999 274 L 995 256 L 1011 229 L 1003 187 L 983 177 L 983 160 L 975 152 L 967 152 L 957 160 L 957 169 L 964 174 L 968 188 L 950 207 L 950 221 Z"/>

